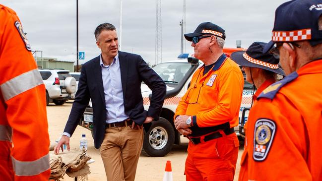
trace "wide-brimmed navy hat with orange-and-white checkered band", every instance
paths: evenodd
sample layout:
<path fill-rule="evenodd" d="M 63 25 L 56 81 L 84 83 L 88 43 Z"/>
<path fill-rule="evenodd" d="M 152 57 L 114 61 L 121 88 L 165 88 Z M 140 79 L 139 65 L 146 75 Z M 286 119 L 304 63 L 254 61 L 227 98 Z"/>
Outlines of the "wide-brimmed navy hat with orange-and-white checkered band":
<path fill-rule="evenodd" d="M 265 45 L 267 45 L 267 43 L 254 42 L 247 51 L 232 53 L 230 59 L 241 66 L 261 68 L 280 75 L 285 75 L 284 71 L 278 66 L 279 59 L 276 59 L 272 54 L 262 53 Z"/>

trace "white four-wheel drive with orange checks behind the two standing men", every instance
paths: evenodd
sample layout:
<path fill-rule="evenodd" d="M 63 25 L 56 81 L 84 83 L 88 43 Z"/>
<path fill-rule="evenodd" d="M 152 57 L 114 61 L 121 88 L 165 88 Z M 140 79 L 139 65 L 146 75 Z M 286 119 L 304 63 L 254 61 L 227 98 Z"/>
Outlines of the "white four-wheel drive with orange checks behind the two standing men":
<path fill-rule="evenodd" d="M 241 49 L 234 49 L 234 51 L 239 50 Z M 228 53 L 230 54 L 231 52 Z M 152 121 L 151 124 L 143 124 L 144 142 L 142 152 L 147 156 L 165 156 L 170 152 L 173 144 L 180 144 L 180 133 L 174 127 L 173 117 L 179 101 L 190 85 L 194 71 L 202 65 L 200 60 L 188 57 L 188 54 L 180 55 L 177 60 L 162 62 L 153 67 L 153 70 L 165 81 L 167 93 L 160 119 L 158 121 Z M 141 92 L 144 108 L 147 110 L 150 104 L 149 97 L 151 96 L 151 90 L 147 85 L 142 83 Z M 245 81 L 242 105 L 240 108 L 240 118 L 242 117 L 244 108 L 251 107 L 252 95 L 253 86 Z M 90 103 L 86 108 L 79 125 L 92 130 L 92 112 Z M 245 120 L 247 120 L 247 114 Z M 240 135 L 238 127 L 235 128 L 235 131 L 237 135 Z"/>

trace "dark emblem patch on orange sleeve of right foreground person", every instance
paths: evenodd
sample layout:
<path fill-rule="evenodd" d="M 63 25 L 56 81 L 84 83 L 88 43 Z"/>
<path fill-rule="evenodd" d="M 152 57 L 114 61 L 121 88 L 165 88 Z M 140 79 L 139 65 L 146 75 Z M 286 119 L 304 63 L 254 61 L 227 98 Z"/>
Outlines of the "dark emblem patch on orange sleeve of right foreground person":
<path fill-rule="evenodd" d="M 276 131 L 275 122 L 259 119 L 255 123 L 253 158 L 256 161 L 265 160 Z"/>

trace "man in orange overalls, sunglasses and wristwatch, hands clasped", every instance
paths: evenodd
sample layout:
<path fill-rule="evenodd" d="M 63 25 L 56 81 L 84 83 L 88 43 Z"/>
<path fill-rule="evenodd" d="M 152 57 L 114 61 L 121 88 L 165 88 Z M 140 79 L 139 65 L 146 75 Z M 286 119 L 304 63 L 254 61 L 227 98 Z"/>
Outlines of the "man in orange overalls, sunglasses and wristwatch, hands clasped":
<path fill-rule="evenodd" d="M 239 141 L 238 125 L 244 78 L 239 66 L 223 54 L 225 31 L 210 22 L 193 33 L 194 57 L 203 61 L 179 102 L 175 127 L 189 138 L 187 181 L 233 181 Z"/>

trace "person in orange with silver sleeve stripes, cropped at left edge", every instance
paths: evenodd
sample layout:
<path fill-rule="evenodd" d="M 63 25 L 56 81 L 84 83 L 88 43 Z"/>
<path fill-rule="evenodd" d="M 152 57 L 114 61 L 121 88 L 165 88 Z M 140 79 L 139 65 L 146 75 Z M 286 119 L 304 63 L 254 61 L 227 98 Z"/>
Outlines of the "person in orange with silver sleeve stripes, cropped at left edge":
<path fill-rule="evenodd" d="M 16 13 L 0 19 L 0 181 L 48 181 L 45 86 Z"/>

